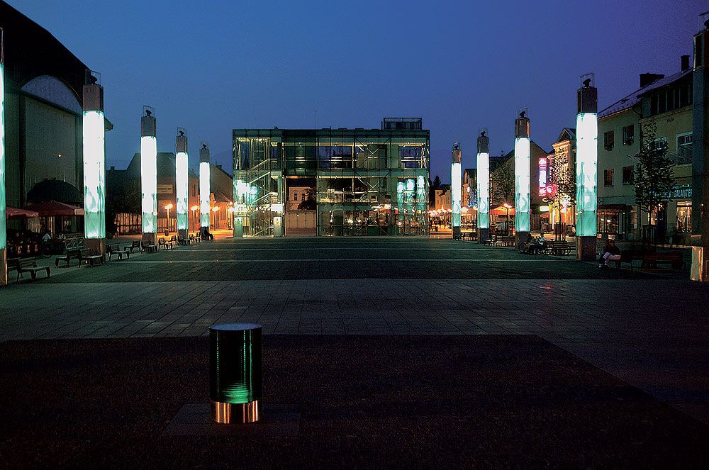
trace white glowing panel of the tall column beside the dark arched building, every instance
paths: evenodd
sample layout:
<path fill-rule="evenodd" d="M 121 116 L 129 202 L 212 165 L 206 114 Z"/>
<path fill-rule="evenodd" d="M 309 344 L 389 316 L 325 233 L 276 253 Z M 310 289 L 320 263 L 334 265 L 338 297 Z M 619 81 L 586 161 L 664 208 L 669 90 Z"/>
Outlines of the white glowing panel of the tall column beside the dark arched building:
<path fill-rule="evenodd" d="M 84 111 L 84 236 L 106 237 L 106 152 L 103 111 Z"/>

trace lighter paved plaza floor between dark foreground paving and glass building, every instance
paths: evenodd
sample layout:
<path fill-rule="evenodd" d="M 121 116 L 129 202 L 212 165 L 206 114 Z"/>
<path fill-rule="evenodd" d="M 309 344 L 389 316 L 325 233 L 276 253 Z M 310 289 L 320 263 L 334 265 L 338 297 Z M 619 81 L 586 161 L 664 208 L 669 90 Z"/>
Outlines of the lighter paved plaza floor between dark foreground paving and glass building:
<path fill-rule="evenodd" d="M 50 260 L 49 260 L 50 261 Z M 216 240 L 0 292 L 0 340 L 537 335 L 709 422 L 709 286 L 425 238 Z"/>

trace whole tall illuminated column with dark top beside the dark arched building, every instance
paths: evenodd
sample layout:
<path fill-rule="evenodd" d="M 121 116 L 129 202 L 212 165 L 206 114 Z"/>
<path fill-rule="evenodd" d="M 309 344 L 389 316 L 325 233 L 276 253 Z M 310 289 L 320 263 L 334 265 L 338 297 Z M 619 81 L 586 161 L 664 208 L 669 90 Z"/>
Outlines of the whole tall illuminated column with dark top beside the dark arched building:
<path fill-rule="evenodd" d="M 104 88 L 100 75 L 87 72 L 82 116 L 84 153 L 84 247 L 104 254 L 106 239 L 106 146 Z"/>

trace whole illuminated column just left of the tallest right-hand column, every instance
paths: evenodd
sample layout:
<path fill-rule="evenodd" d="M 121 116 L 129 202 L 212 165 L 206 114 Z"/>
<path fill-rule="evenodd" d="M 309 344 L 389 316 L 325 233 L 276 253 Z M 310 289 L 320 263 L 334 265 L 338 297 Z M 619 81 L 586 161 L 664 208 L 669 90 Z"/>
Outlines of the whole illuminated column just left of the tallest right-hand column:
<path fill-rule="evenodd" d="M 522 111 L 515 119 L 515 230 L 517 241 L 530 231 L 530 120 Z"/>

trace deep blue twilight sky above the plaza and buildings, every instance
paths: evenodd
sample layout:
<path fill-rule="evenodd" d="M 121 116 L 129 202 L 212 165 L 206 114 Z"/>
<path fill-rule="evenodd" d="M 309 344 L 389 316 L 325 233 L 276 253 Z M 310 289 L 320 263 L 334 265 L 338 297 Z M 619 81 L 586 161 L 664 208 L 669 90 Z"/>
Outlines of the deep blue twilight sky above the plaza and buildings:
<path fill-rule="evenodd" d="M 103 74 L 108 164 L 140 148 L 143 104 L 160 151 L 187 129 L 230 168 L 233 128 L 379 128 L 420 116 L 431 175 L 450 181 L 450 148 L 474 166 L 475 138 L 513 147 L 518 108 L 548 149 L 576 115 L 579 75 L 596 72 L 601 108 L 642 72 L 678 72 L 705 0 L 167 1 L 9 0 Z M 316 124 L 317 110 L 317 124 Z"/>

